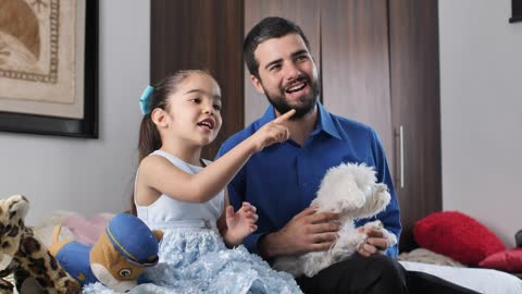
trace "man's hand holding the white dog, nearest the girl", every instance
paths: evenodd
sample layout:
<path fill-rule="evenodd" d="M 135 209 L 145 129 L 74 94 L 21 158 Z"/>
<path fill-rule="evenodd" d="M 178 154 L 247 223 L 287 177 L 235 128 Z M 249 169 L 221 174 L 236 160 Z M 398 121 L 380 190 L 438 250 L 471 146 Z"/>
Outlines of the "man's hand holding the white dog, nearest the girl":
<path fill-rule="evenodd" d="M 309 207 L 296 215 L 278 232 L 265 235 L 259 246 L 266 258 L 281 255 L 300 255 L 328 249 L 340 229 L 338 213 L 316 213 Z"/>

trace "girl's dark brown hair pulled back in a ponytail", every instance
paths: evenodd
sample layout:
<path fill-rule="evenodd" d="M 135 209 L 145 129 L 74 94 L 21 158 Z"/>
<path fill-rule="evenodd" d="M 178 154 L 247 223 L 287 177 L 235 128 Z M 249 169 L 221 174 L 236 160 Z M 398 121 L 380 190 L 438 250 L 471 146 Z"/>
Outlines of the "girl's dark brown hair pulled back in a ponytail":
<path fill-rule="evenodd" d="M 158 127 L 152 121 L 152 111 L 157 108 L 161 108 L 165 111 L 169 111 L 169 97 L 175 94 L 182 84 L 187 77 L 192 74 L 206 74 L 210 77 L 212 75 L 204 70 L 186 70 L 178 71 L 175 74 L 169 75 L 163 78 L 160 83 L 153 85 L 154 91 L 149 102 L 149 113 L 145 114 L 141 119 L 141 124 L 139 125 L 139 138 L 138 138 L 138 154 L 139 162 L 151 152 L 161 148 L 162 142 Z M 213 77 L 212 77 L 213 78 Z M 138 163 L 139 164 L 139 163 Z M 134 188 L 133 195 L 130 197 L 130 210 L 128 212 L 136 216 L 136 206 L 134 204 Z"/>

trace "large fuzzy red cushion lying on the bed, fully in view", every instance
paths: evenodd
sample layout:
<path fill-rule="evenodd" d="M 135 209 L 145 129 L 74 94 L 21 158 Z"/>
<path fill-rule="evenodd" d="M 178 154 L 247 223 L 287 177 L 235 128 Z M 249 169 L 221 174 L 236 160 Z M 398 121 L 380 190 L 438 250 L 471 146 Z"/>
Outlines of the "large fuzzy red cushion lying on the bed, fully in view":
<path fill-rule="evenodd" d="M 485 225 L 459 212 L 432 213 L 413 228 L 417 244 L 469 266 L 501 252 L 504 243 Z"/>

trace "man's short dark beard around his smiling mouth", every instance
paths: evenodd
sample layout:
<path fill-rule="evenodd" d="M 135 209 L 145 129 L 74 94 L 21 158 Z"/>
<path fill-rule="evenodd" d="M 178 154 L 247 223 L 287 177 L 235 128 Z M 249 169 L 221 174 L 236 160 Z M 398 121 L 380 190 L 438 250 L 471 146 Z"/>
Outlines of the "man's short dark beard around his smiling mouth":
<path fill-rule="evenodd" d="M 264 87 L 264 95 L 269 99 L 270 103 L 277 110 L 278 113 L 283 114 L 291 109 L 296 110 L 296 113 L 291 115 L 290 120 L 298 120 L 301 119 L 302 117 L 307 115 L 310 113 L 318 101 L 319 93 L 320 93 L 320 86 L 319 86 L 319 81 L 315 79 L 313 83 L 310 83 L 310 78 L 307 78 L 307 83 L 310 85 L 312 89 L 312 97 L 308 100 L 304 100 L 302 105 L 299 106 L 290 106 L 286 99 L 285 99 L 285 91 L 284 89 L 281 90 L 281 95 L 271 95 Z M 307 98 L 304 98 L 307 99 Z M 302 101 L 302 100 L 301 100 Z"/>

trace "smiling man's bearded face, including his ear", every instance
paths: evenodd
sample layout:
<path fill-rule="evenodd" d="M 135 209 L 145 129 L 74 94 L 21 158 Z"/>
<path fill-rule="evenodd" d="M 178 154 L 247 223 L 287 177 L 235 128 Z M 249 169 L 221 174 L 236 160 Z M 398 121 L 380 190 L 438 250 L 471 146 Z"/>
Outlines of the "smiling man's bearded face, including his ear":
<path fill-rule="evenodd" d="M 319 78 L 302 38 L 289 34 L 261 42 L 253 52 L 259 76 L 251 76 L 259 93 L 266 95 L 278 113 L 296 109 L 291 119 L 299 119 L 315 109 Z"/>

